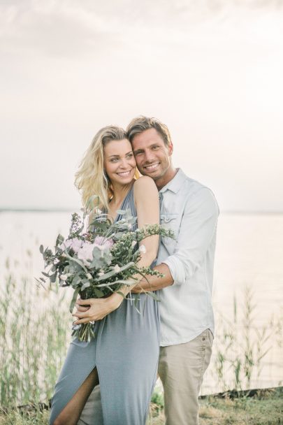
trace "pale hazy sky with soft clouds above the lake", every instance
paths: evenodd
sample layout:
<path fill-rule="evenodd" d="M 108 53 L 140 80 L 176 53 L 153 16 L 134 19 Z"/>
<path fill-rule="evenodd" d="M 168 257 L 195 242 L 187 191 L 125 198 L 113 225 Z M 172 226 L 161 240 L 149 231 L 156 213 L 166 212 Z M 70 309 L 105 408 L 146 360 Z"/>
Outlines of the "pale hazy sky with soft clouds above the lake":
<path fill-rule="evenodd" d="M 1 0 L 0 208 L 78 208 L 103 126 L 165 122 L 222 211 L 283 212 L 283 1 Z"/>

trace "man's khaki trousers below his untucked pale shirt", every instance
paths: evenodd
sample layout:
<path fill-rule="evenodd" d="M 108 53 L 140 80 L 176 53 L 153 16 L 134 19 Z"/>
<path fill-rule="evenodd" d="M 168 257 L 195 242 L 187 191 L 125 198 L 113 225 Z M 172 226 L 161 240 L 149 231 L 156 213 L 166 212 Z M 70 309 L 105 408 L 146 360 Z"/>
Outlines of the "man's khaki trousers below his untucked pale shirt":
<path fill-rule="evenodd" d="M 160 348 L 159 377 L 164 387 L 166 425 L 197 425 L 198 394 L 212 353 L 206 329 L 189 343 Z"/>

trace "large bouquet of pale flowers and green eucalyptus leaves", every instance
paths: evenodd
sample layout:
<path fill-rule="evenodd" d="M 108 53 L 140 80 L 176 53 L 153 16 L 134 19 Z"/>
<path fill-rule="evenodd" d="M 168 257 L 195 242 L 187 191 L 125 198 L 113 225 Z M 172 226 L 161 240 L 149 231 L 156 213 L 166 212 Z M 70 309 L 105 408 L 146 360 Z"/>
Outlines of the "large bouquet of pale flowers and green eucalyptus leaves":
<path fill-rule="evenodd" d="M 136 217 L 130 210 L 118 210 L 122 219 L 112 222 L 107 214 L 100 210 L 88 208 L 83 210 L 82 218 L 78 213 L 72 214 L 68 238 L 59 234 L 55 243 L 55 252 L 50 248 L 40 246 L 45 269 L 44 278 L 36 279 L 40 284 L 49 280 L 50 284 L 60 287 L 72 287 L 73 298 L 70 312 L 73 312 L 78 295 L 82 299 L 101 298 L 119 292 L 124 284 L 132 285 L 135 275 L 146 278 L 146 275 L 162 276 L 150 267 L 138 267 L 141 253 L 145 245 L 140 241 L 152 235 L 174 238 L 170 229 L 164 229 L 159 224 L 147 225 L 143 229 L 132 230 Z M 85 231 L 85 218 L 89 216 L 89 226 Z M 122 292 L 119 292 L 122 296 Z M 154 299 L 153 292 L 147 292 Z M 125 297 L 125 296 L 124 296 Z M 135 307 L 138 298 L 135 298 Z M 94 338 L 94 323 L 73 325 L 72 336 L 80 341 Z"/>

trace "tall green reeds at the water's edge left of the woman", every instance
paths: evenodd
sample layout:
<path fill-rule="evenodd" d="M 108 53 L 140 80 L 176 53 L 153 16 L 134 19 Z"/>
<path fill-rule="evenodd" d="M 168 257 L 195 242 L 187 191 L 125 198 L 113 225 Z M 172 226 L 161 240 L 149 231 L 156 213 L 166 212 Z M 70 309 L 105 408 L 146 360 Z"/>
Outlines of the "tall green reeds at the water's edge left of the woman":
<path fill-rule="evenodd" d="M 46 401 L 70 339 L 65 293 L 16 279 L 9 261 L 0 287 L 0 404 Z"/>

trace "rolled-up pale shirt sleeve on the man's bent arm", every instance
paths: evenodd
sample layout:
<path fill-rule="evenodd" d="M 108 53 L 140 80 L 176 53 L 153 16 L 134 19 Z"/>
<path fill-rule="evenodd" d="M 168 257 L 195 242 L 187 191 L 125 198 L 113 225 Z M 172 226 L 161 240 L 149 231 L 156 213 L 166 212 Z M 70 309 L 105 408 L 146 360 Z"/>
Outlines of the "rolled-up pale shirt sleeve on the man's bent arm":
<path fill-rule="evenodd" d="M 175 250 L 162 261 L 167 264 L 174 284 L 184 284 L 205 261 L 215 236 L 218 215 L 217 201 L 207 187 L 187 200 Z"/>

